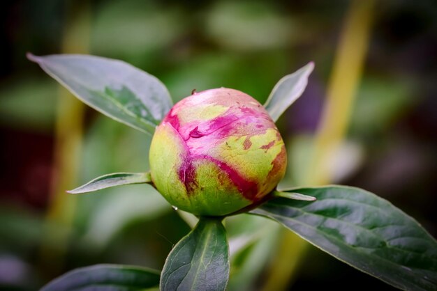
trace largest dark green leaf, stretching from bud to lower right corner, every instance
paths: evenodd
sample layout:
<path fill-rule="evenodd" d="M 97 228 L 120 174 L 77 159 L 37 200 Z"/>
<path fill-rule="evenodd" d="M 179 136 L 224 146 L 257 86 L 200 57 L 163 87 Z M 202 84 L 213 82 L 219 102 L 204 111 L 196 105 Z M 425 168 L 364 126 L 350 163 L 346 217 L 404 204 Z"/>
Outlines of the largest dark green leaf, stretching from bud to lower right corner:
<path fill-rule="evenodd" d="M 405 290 L 436 290 L 437 242 L 417 221 L 368 191 L 327 186 L 274 198 L 251 213 L 269 217 L 362 272 Z"/>

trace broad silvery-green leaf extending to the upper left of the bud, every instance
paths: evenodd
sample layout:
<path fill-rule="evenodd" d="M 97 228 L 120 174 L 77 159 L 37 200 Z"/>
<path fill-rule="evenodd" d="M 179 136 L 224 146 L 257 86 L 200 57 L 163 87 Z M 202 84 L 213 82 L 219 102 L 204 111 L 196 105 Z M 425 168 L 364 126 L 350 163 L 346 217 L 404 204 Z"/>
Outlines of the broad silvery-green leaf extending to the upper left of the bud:
<path fill-rule="evenodd" d="M 76 54 L 27 57 L 90 107 L 147 134 L 172 107 L 161 81 L 123 61 Z"/>

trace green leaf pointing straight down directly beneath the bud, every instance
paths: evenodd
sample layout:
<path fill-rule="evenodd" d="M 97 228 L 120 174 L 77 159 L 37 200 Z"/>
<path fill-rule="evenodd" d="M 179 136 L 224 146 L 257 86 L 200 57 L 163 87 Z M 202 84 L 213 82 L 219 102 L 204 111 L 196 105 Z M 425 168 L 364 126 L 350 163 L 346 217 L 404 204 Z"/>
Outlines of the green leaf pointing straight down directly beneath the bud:
<path fill-rule="evenodd" d="M 161 291 L 225 290 L 229 278 L 229 247 L 221 219 L 200 218 L 165 260 Z"/>

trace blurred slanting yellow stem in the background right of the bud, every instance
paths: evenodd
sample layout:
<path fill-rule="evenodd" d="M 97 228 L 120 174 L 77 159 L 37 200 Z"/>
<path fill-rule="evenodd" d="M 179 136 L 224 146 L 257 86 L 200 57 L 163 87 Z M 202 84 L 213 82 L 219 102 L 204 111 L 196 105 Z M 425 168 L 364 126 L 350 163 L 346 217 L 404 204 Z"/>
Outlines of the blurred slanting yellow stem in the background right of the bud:
<path fill-rule="evenodd" d="M 348 129 L 369 46 L 374 4 L 374 0 L 355 0 L 350 3 L 327 86 L 327 98 L 315 137 L 310 171 L 304 175 L 303 184 L 327 184 L 332 179 L 330 161 L 338 152 Z M 287 290 L 309 245 L 294 233 L 284 232 L 263 290 Z"/>

